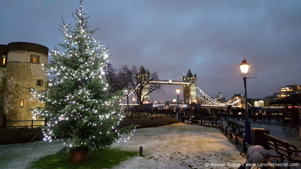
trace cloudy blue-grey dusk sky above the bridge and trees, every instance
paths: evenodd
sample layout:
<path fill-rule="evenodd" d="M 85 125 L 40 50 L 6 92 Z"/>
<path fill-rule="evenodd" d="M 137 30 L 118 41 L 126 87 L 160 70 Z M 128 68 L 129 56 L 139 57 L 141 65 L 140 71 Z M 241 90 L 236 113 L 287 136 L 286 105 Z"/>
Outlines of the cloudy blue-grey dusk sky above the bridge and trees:
<path fill-rule="evenodd" d="M 0 1 L 0 44 L 26 41 L 49 49 L 63 43 L 61 17 L 79 1 Z M 278 87 L 301 84 L 299 1 L 83 1 L 95 37 L 110 45 L 110 62 L 144 64 L 161 79 L 182 80 L 190 68 L 212 97 L 243 94 L 238 63 L 251 63 L 248 97 L 262 98 Z M 163 77 L 165 75 L 165 77 Z M 175 77 L 174 77 L 175 76 Z M 165 86 L 172 100 L 177 86 Z M 161 99 L 163 101 L 163 99 Z"/>

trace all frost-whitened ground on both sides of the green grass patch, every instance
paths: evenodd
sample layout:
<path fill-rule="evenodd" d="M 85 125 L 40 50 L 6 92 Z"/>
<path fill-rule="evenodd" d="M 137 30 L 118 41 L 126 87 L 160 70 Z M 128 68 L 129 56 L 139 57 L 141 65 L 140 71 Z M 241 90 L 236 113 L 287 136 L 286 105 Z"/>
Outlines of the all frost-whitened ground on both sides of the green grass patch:
<path fill-rule="evenodd" d="M 235 165 L 246 161 L 216 128 L 190 124 L 137 129 L 128 142 L 114 143 L 112 148 L 139 151 L 140 146 L 143 146 L 142 157 L 123 161 L 113 169 L 238 168 Z M 0 168 L 24 169 L 30 161 L 54 154 L 63 147 L 60 141 L 2 145 Z"/>

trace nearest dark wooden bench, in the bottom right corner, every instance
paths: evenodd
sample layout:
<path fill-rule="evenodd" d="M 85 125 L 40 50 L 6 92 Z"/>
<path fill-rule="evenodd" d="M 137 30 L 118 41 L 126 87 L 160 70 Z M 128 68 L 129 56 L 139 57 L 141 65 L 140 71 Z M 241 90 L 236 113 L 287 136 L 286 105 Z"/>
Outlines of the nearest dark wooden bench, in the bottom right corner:
<path fill-rule="evenodd" d="M 301 151 L 297 150 L 296 146 L 288 144 L 286 141 L 280 140 L 276 137 L 268 135 L 266 133 L 263 134 L 266 142 L 269 147 L 265 147 L 266 149 L 273 149 L 278 154 L 278 156 L 272 157 L 280 157 L 281 162 L 283 162 L 284 157 L 291 163 L 301 163 Z M 290 166 L 288 167 L 288 169 Z"/>

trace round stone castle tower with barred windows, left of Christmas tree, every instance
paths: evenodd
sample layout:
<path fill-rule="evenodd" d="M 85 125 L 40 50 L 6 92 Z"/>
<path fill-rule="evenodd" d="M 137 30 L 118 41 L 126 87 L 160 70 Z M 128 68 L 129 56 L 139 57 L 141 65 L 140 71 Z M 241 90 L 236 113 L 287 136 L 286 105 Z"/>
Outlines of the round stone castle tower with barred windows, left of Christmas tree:
<path fill-rule="evenodd" d="M 42 69 L 41 64 L 48 63 L 48 48 L 34 43 L 12 42 L 8 45 L 0 45 L 0 54 L 1 91 L 6 91 L 6 95 L 12 96 L 9 103 L 13 105 L 5 113 L 6 120 L 32 120 L 33 114 L 28 110 L 44 107 L 44 104 L 34 99 L 27 88 L 46 89 L 47 72 Z M 14 81 L 13 88 L 8 83 L 9 80 Z M 3 98 L 1 101 L 3 103 Z M 29 123 L 21 121 L 7 123 L 7 125 L 30 125 Z M 44 122 L 40 121 L 40 124 L 34 125 L 42 124 Z"/>

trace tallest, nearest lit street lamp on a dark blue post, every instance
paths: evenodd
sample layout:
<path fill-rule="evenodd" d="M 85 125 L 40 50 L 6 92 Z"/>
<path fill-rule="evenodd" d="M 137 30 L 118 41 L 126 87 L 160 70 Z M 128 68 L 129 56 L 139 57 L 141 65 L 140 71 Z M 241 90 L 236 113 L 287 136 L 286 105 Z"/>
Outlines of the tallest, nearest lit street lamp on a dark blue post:
<path fill-rule="evenodd" d="M 249 121 L 249 113 L 248 113 L 248 104 L 247 104 L 247 76 L 248 74 L 248 69 L 249 69 L 250 63 L 247 63 L 246 58 L 239 63 L 240 70 L 241 70 L 241 77 L 244 79 L 244 90 L 245 90 L 245 104 L 246 104 L 246 112 L 245 112 L 245 142 L 251 144 L 251 124 Z"/>

